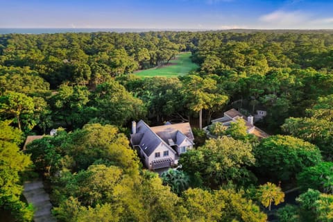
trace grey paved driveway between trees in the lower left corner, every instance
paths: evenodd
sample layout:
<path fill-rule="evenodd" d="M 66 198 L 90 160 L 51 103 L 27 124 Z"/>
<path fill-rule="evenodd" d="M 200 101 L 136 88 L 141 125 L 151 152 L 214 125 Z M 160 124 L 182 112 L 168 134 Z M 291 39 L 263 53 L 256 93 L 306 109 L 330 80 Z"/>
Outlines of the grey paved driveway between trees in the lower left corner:
<path fill-rule="evenodd" d="M 35 222 L 56 222 L 51 215 L 52 205 L 50 203 L 49 194 L 44 190 L 42 180 L 33 180 L 24 182 L 23 195 L 35 207 Z"/>

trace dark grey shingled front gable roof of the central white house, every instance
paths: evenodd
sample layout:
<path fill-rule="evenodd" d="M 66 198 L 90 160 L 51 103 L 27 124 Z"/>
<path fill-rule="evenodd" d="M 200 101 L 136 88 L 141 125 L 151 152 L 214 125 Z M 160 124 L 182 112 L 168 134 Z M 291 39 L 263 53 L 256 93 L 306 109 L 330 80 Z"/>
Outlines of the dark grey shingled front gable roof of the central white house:
<path fill-rule="evenodd" d="M 137 123 L 137 133 L 130 135 L 130 137 L 132 145 L 140 146 L 147 156 L 150 156 L 161 143 L 170 148 L 173 153 L 176 153 L 143 120 Z"/>

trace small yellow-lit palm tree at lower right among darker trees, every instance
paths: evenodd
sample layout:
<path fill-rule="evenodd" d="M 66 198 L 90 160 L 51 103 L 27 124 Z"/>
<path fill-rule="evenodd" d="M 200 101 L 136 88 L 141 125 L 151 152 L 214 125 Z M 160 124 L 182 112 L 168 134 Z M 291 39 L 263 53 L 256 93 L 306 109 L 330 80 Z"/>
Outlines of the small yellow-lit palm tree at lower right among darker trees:
<path fill-rule="evenodd" d="M 264 185 L 259 186 L 259 200 L 268 210 L 271 211 L 271 205 L 284 202 L 284 192 L 280 186 L 276 186 L 271 182 L 266 182 Z"/>

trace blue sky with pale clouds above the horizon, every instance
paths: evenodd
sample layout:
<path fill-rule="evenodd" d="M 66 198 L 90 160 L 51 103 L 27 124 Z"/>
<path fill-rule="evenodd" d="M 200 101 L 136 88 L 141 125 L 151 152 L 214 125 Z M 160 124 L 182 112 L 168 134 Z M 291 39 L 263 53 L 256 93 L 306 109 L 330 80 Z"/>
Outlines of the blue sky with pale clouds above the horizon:
<path fill-rule="evenodd" d="M 332 0 L 0 0 L 0 28 L 333 28 Z"/>

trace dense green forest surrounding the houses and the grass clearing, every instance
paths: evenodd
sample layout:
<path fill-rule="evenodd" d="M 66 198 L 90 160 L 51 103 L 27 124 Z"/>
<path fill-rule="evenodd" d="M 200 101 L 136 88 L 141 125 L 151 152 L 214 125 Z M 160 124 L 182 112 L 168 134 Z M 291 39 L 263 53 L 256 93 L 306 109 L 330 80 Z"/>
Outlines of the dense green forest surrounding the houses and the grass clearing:
<path fill-rule="evenodd" d="M 135 75 L 182 52 L 198 69 Z M 333 221 L 332 85 L 325 31 L 0 35 L 0 210 L 32 221 L 22 184 L 41 177 L 58 221 Z M 237 122 L 208 139 L 230 108 L 266 110 L 271 136 Z M 190 121 L 181 168 L 144 169 L 128 141 L 139 119 Z"/>

